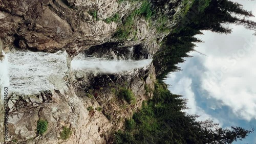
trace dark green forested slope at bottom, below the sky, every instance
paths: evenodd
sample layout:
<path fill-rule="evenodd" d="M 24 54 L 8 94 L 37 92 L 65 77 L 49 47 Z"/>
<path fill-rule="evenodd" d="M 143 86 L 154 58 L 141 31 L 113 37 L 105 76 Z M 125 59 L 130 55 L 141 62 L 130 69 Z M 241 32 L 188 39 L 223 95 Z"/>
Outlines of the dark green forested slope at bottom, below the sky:
<path fill-rule="evenodd" d="M 206 120 L 196 121 L 188 115 L 186 100 L 172 94 L 166 84 L 155 84 L 154 98 L 144 102 L 142 109 L 126 120 L 126 131 L 115 133 L 115 143 L 231 143 L 245 138 L 252 131 L 240 127 L 222 129 Z"/>

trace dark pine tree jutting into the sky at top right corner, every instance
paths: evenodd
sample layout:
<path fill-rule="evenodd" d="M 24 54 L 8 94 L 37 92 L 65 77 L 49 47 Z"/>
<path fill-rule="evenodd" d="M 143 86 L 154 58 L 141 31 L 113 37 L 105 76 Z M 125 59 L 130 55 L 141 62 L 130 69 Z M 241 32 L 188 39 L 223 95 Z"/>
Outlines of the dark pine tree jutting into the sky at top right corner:
<path fill-rule="evenodd" d="M 251 11 L 244 10 L 242 5 L 228 0 L 211 0 L 205 11 L 191 19 L 191 28 L 210 30 L 218 33 L 231 33 L 223 24 L 235 24 L 256 31 L 256 22 L 246 19 L 254 17 Z M 255 33 L 256 34 L 256 33 Z"/>

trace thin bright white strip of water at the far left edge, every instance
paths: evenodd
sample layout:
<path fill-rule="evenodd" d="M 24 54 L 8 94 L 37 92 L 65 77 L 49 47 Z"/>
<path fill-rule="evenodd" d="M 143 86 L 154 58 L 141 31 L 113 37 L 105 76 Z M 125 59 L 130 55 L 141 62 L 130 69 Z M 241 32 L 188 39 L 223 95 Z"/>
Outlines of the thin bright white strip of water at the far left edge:
<path fill-rule="evenodd" d="M 0 60 L 0 92 L 1 99 L 4 100 L 4 87 L 9 88 L 9 76 L 8 76 L 8 55 L 3 51 L 4 59 Z"/>

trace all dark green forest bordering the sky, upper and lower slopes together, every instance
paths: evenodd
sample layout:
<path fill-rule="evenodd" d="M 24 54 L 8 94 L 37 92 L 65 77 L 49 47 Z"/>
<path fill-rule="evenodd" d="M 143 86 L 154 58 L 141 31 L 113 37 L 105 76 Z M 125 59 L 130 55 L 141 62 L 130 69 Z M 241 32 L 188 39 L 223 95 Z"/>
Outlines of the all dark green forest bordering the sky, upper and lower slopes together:
<path fill-rule="evenodd" d="M 174 17 L 180 19 L 180 22 L 164 38 L 161 49 L 153 57 L 158 76 L 154 97 L 143 102 L 142 109 L 126 120 L 126 130 L 115 133 L 114 143 L 224 144 L 242 140 L 254 130 L 241 127 L 222 129 L 209 119 L 197 121 L 198 115 L 189 115 L 183 111 L 187 107 L 182 95 L 170 93 L 167 85 L 162 82 L 168 73 L 180 70 L 177 64 L 184 62 L 183 58 L 190 57 L 188 52 L 196 51 L 195 42 L 202 41 L 195 35 L 202 34 L 202 30 L 231 33 L 231 29 L 224 27 L 224 23 L 256 30 L 256 22 L 246 19 L 253 16 L 252 13 L 243 10 L 238 3 L 228 0 L 184 0 L 183 4 L 180 15 Z M 161 21 L 163 25 L 158 28 L 160 32 L 165 27 L 165 20 L 159 20 Z"/>

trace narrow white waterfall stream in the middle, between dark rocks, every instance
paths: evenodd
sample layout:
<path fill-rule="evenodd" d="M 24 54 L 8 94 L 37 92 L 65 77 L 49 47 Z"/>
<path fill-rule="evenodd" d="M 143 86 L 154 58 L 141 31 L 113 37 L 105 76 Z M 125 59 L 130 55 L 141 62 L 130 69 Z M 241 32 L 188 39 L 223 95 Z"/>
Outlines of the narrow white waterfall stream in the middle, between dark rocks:
<path fill-rule="evenodd" d="M 88 73 L 115 74 L 129 70 L 143 68 L 149 65 L 152 59 L 144 60 L 108 60 L 106 58 L 86 57 L 77 55 L 71 61 L 72 70 L 82 70 Z"/>

